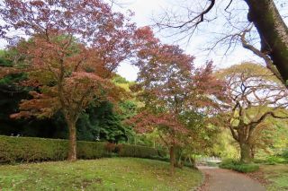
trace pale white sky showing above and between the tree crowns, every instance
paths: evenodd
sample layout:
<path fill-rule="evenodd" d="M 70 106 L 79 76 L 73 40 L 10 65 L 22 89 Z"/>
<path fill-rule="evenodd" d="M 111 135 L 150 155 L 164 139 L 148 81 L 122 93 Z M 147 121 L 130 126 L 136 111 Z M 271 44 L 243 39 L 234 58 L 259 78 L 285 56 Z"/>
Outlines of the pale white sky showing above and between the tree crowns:
<path fill-rule="evenodd" d="M 112 1 L 112 0 L 105 0 Z M 190 7 L 194 10 L 199 9 L 199 4 L 202 6 L 207 6 L 209 1 L 204 0 L 116 0 L 121 4 L 121 6 L 113 5 L 112 8 L 114 11 L 127 13 L 127 10 L 130 10 L 135 13 L 132 17 L 132 22 L 136 22 L 138 27 L 154 25 L 153 18 L 159 18 L 158 16 L 164 13 L 165 10 L 172 11 L 174 13 L 183 13 L 185 17 L 186 7 Z M 275 0 L 279 4 L 285 4 L 286 0 Z M 0 0 L 2 2 L 2 0 Z M 158 31 L 155 28 L 155 33 L 157 38 L 161 39 L 162 42 L 168 44 L 176 44 L 184 49 L 186 54 L 195 56 L 194 65 L 200 66 L 205 64 L 207 61 L 213 61 L 216 69 L 228 67 L 229 65 L 240 64 L 241 62 L 256 62 L 263 64 L 263 60 L 259 57 L 253 55 L 250 51 L 237 46 L 236 48 L 230 49 L 229 53 L 226 56 L 223 56 L 227 45 L 221 45 L 216 52 L 211 52 L 208 54 L 208 51 L 204 51 L 205 48 L 211 46 L 211 42 L 215 41 L 215 37 L 220 37 L 222 33 L 227 34 L 232 31 L 235 31 L 238 26 L 242 25 L 243 21 L 247 21 L 247 5 L 244 1 L 233 1 L 233 4 L 230 5 L 229 10 L 233 15 L 235 15 L 234 22 L 235 26 L 231 28 L 227 25 L 226 17 L 224 14 L 223 7 L 229 4 L 229 0 L 221 0 L 218 3 L 218 6 L 212 9 L 212 12 L 209 13 L 207 19 L 210 19 L 212 22 L 202 22 L 200 28 L 196 30 L 193 34 L 193 37 L 189 40 L 178 40 L 180 37 L 171 36 L 173 31 L 170 30 L 161 30 Z M 287 3 L 288 4 L 288 3 Z M 286 5 L 287 5 L 286 4 Z M 281 8 L 284 10 L 284 14 L 288 15 L 288 6 Z M 279 8 L 279 7 L 278 7 Z M 288 18 L 288 17 L 287 17 Z M 1 21 L 0 21 L 1 22 Z M 286 19 L 287 22 L 287 19 Z M 235 28 L 235 29 L 234 29 Z M 217 38 L 216 38 L 217 39 Z M 187 43 L 188 42 L 188 43 Z M 0 48 L 4 48 L 5 42 L 0 39 Z M 256 44 L 259 46 L 259 44 Z M 121 63 L 117 71 L 118 74 L 125 77 L 129 81 L 135 81 L 137 78 L 138 68 L 136 66 L 130 65 L 128 62 Z"/>

